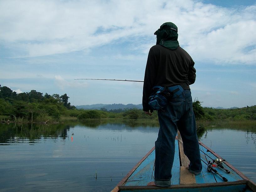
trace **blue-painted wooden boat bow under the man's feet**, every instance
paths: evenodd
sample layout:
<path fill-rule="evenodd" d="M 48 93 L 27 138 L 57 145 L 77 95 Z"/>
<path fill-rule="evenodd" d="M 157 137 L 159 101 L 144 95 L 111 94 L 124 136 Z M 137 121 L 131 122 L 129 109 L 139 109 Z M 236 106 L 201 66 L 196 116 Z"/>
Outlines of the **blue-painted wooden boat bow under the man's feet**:
<path fill-rule="evenodd" d="M 182 141 L 181 141 L 182 142 Z M 199 141 L 201 151 L 201 159 L 205 162 L 216 158 L 221 158 L 218 154 L 213 152 L 210 148 Z M 157 186 L 147 186 L 147 183 L 154 181 L 154 161 L 155 150 L 154 147 L 146 154 L 145 157 L 136 164 L 136 166 L 123 178 L 120 183 L 112 190 L 112 192 L 119 191 L 256 191 L 256 185 L 248 179 L 243 173 L 234 168 L 230 163 L 223 162 L 223 167 L 230 170 L 227 174 L 221 168 L 215 168 L 221 175 L 228 179 L 224 182 L 222 178 L 216 173 L 208 172 L 207 165 L 202 163 L 203 169 L 199 175 L 195 175 L 195 184 L 180 184 L 180 142 L 178 138 L 175 141 L 175 156 L 172 168 L 172 186 L 162 188 Z M 182 144 L 183 145 L 183 144 Z M 183 151 L 183 150 L 182 150 Z M 205 153 L 207 155 L 205 155 Z"/>

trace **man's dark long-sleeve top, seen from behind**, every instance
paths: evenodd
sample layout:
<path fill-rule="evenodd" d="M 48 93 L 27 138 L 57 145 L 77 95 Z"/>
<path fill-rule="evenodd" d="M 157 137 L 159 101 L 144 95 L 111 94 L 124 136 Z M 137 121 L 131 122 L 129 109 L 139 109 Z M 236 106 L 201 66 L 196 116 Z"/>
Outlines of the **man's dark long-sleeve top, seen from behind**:
<path fill-rule="evenodd" d="M 154 45 L 148 53 L 144 76 L 142 105 L 148 111 L 148 98 L 154 86 L 174 86 L 186 83 L 184 89 L 195 83 L 195 62 L 189 54 L 178 47 L 170 50 L 161 45 Z"/>

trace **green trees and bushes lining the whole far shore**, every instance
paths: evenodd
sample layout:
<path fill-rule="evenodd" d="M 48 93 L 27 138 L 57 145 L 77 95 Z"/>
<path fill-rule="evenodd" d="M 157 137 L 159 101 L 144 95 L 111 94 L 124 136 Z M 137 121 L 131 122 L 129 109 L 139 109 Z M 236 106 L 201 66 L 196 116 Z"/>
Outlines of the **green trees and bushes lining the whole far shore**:
<path fill-rule="evenodd" d="M 146 115 L 142 109 L 77 109 L 68 102 L 67 94 L 49 95 L 31 90 L 17 94 L 8 87 L 0 85 L 0 122 L 15 123 L 59 123 L 65 119 L 88 120 L 117 120 L 145 123 L 158 123 L 157 112 L 152 116 Z M 227 122 L 229 125 L 256 125 L 256 105 L 237 109 L 203 108 L 201 102 L 194 100 L 193 110 L 200 126 L 217 125 Z"/>

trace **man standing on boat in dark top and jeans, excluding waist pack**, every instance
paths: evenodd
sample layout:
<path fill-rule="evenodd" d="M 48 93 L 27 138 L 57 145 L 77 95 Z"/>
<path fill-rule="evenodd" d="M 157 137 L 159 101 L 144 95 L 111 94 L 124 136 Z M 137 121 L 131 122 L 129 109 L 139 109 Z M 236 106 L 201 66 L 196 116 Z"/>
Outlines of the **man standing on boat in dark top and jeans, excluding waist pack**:
<path fill-rule="evenodd" d="M 189 85 L 195 83 L 194 61 L 179 46 L 178 28 L 168 22 L 155 33 L 157 43 L 149 50 L 143 85 L 143 111 L 152 115 L 149 96 L 154 86 L 171 88 L 179 85 L 181 94 L 168 98 L 167 105 L 158 110 L 160 129 L 155 142 L 155 182 L 152 185 L 171 185 L 172 166 L 175 152 L 175 137 L 179 130 L 184 153 L 189 158 L 189 172 L 199 174 L 202 170 L 195 115 Z"/>

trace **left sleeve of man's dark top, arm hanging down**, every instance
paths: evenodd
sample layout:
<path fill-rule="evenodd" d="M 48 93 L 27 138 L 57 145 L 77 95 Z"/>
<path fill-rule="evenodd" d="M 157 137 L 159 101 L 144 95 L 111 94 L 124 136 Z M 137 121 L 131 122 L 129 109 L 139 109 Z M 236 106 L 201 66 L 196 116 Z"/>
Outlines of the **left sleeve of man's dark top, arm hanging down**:
<path fill-rule="evenodd" d="M 150 107 L 148 105 L 148 98 L 151 94 L 151 89 L 154 87 L 154 83 L 157 76 L 157 58 L 156 54 L 152 50 L 149 50 L 147 57 L 147 65 L 145 69 L 144 84 L 143 84 L 143 96 L 142 96 L 142 106 L 143 111 L 149 111 Z"/>

